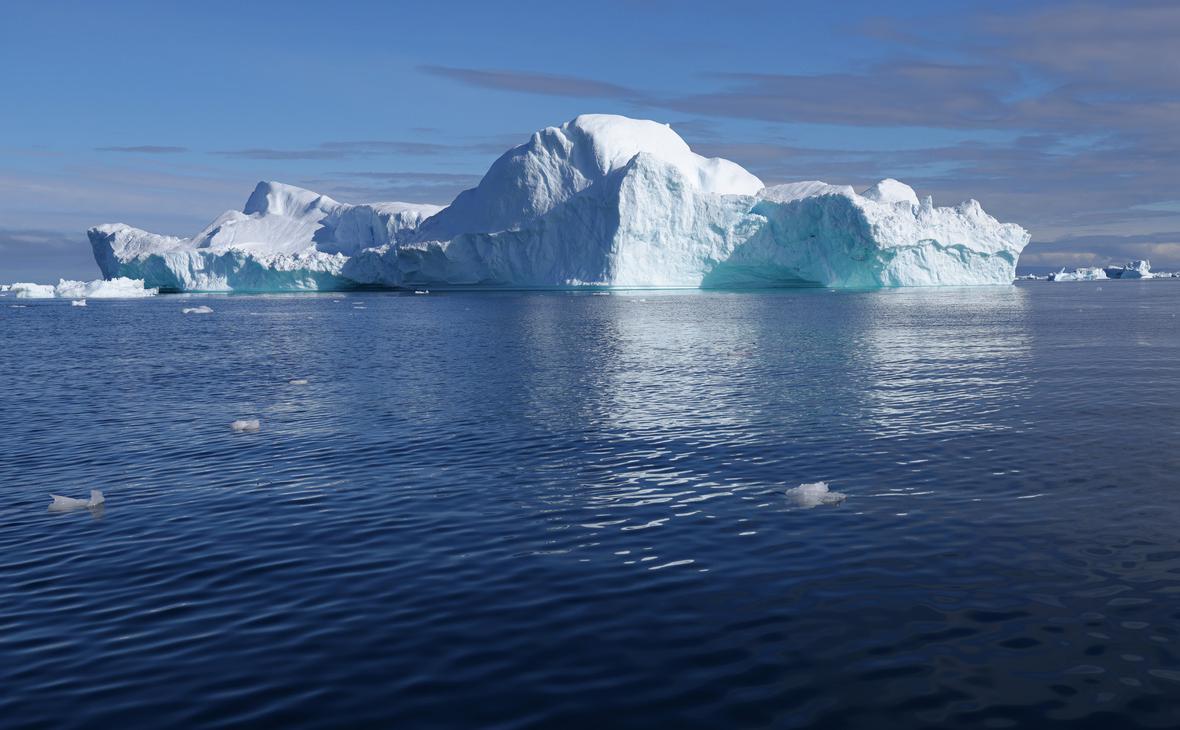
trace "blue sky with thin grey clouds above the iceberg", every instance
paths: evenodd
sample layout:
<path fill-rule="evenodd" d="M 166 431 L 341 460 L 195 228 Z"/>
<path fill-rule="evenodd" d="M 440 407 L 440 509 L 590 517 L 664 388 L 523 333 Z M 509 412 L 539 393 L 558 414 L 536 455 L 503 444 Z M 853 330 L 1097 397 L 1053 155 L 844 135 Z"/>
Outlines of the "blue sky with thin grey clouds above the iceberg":
<path fill-rule="evenodd" d="M 500 6 L 504 7 L 500 7 Z M 978 199 L 1022 267 L 1180 268 L 1180 2 L 4 0 L 0 282 L 191 236 L 258 180 L 448 203 L 579 113 L 767 184 Z"/>

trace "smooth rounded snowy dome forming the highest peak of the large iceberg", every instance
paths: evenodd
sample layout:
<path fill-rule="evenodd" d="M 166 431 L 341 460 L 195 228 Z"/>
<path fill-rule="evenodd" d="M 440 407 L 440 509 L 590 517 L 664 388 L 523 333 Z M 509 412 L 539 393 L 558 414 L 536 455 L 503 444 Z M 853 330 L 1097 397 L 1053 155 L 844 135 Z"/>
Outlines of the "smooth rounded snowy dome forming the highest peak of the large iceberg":
<path fill-rule="evenodd" d="M 518 230 L 622 170 L 640 153 L 676 170 L 700 192 L 754 195 L 762 189 L 762 182 L 741 165 L 693 152 L 666 124 L 582 114 L 533 133 L 500 156 L 479 185 L 459 193 L 422 225 L 419 238 L 445 241 L 461 234 Z"/>

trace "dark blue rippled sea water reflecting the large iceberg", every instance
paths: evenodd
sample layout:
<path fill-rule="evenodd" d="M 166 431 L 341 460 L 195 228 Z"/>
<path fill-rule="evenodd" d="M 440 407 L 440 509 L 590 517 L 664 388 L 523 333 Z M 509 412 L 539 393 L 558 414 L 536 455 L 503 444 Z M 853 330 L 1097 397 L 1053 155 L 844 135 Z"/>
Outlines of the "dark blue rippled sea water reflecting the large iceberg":
<path fill-rule="evenodd" d="M 1178 311 L 0 298 L 0 725 L 1174 728 Z"/>

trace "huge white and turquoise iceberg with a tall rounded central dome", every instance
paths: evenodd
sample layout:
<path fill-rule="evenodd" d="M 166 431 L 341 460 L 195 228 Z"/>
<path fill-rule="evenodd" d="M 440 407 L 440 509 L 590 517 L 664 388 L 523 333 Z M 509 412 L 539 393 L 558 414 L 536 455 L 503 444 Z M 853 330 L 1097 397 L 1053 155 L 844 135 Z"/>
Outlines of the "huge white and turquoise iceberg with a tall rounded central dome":
<path fill-rule="evenodd" d="M 1009 284 L 1029 234 L 886 179 L 767 188 L 669 126 L 584 114 L 505 152 L 451 205 L 349 205 L 258 183 L 191 238 L 88 231 L 103 276 L 165 291 Z"/>

